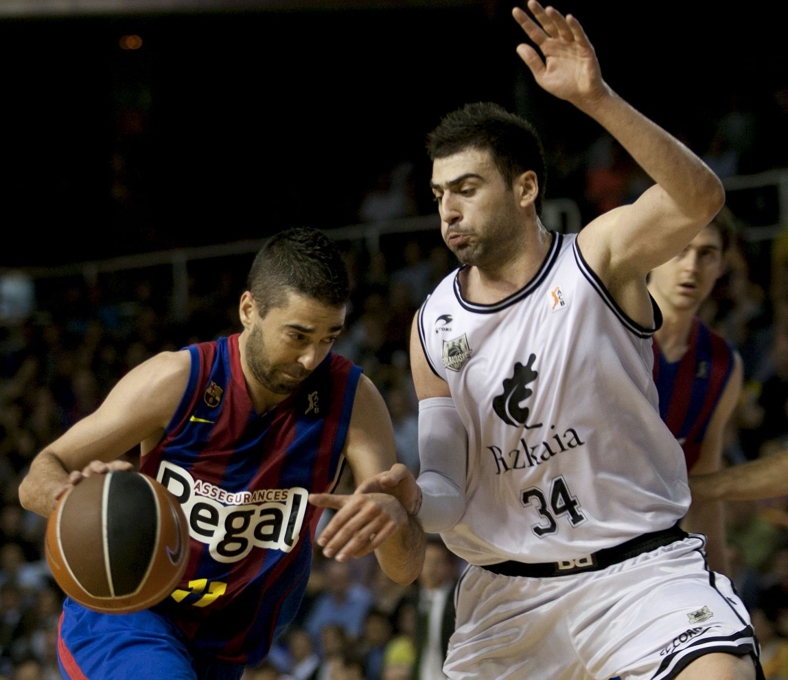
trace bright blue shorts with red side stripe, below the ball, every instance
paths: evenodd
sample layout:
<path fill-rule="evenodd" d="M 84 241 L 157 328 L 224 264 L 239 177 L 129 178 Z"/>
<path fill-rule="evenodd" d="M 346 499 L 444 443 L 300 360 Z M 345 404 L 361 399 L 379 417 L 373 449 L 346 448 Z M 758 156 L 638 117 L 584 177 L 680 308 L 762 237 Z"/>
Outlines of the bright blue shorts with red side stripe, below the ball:
<path fill-rule="evenodd" d="M 100 614 L 70 597 L 58 626 L 58 661 L 69 680 L 240 680 L 243 666 L 202 656 L 157 611 Z"/>

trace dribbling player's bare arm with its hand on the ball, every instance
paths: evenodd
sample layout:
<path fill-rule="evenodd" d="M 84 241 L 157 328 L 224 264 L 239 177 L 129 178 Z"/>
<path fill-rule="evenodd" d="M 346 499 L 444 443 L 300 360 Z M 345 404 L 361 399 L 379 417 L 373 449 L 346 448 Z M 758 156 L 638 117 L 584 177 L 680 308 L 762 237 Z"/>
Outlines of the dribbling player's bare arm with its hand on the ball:
<path fill-rule="evenodd" d="M 190 366 L 188 352 L 165 352 L 128 372 L 95 413 L 33 459 L 19 488 L 22 506 L 46 517 L 58 496 L 83 476 L 130 468 L 115 458 L 161 437 L 184 394 Z"/>

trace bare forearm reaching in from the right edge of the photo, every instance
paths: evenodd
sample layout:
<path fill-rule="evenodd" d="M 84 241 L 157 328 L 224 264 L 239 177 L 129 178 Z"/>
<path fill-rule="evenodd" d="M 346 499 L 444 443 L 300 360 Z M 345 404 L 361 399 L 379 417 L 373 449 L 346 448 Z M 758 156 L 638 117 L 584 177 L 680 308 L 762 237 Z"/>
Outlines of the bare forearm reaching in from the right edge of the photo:
<path fill-rule="evenodd" d="M 788 495 L 788 451 L 689 478 L 693 499 L 748 501 Z"/>

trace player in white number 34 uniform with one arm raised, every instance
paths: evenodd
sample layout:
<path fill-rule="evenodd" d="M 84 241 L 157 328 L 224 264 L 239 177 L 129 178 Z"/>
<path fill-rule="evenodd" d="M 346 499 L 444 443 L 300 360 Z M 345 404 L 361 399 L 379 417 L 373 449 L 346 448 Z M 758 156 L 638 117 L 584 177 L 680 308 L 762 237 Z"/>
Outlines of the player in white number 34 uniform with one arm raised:
<path fill-rule="evenodd" d="M 574 17 L 528 3 L 519 55 L 546 91 L 613 135 L 656 182 L 562 237 L 539 221 L 530 125 L 474 104 L 430 134 L 441 229 L 463 267 L 414 319 L 418 484 L 388 490 L 470 563 L 444 672 L 507 680 L 756 678 L 757 645 L 730 581 L 708 570 L 686 465 L 660 420 L 646 275 L 716 215 L 697 156 L 608 88 Z M 370 517 L 340 510 L 331 556 Z"/>

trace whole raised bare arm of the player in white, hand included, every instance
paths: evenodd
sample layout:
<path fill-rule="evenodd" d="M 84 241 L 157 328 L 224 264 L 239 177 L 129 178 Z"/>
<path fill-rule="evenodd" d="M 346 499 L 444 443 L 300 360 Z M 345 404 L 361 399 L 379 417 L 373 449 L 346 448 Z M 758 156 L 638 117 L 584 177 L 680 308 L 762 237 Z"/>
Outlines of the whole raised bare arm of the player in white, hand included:
<path fill-rule="evenodd" d="M 611 90 L 577 19 L 536 0 L 528 9 L 533 19 L 519 8 L 513 14 L 544 59 L 528 44 L 517 51 L 537 84 L 607 129 L 656 182 L 634 204 L 591 222 L 578 244 L 606 284 L 645 277 L 716 215 L 724 203 L 723 186 L 697 155 Z"/>

